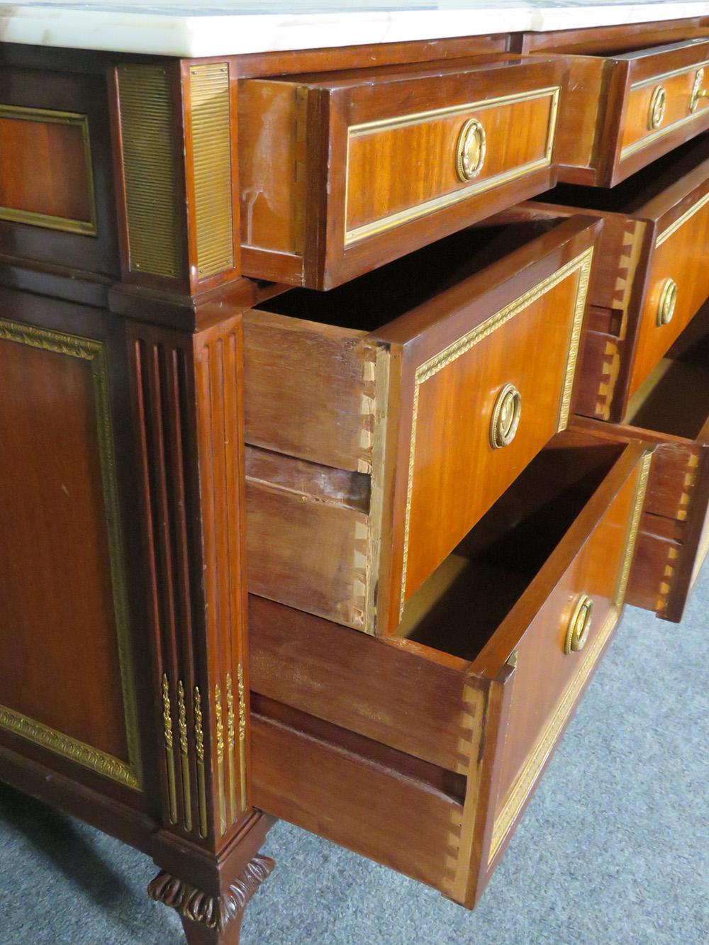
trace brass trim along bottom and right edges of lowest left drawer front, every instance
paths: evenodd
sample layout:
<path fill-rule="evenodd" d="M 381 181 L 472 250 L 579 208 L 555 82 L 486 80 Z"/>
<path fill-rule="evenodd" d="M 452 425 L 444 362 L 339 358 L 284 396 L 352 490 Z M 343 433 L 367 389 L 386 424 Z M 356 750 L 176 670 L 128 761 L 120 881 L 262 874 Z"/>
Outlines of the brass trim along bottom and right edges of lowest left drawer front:
<path fill-rule="evenodd" d="M 546 759 L 551 754 L 551 750 L 559 737 L 559 733 L 561 732 L 564 724 L 566 723 L 566 720 L 571 714 L 576 700 L 579 697 L 579 693 L 583 688 L 586 679 L 588 679 L 591 671 L 596 665 L 601 650 L 611 635 L 613 628 L 617 623 L 618 617 L 620 616 L 620 610 L 623 606 L 625 592 L 628 586 L 628 576 L 631 569 L 632 554 L 635 549 L 635 541 L 637 539 L 637 533 L 640 527 L 640 516 L 643 510 L 645 493 L 648 487 L 648 472 L 651 458 L 651 454 L 646 454 L 640 460 L 640 469 L 638 471 L 637 482 L 635 485 L 635 494 L 633 497 L 631 515 L 628 523 L 628 531 L 623 549 L 623 558 L 611 610 L 609 610 L 608 616 L 606 617 L 603 626 L 598 631 L 594 642 L 588 648 L 587 656 L 582 662 L 579 672 L 567 686 L 556 712 L 551 717 L 548 725 L 542 733 L 542 736 L 527 759 L 527 764 L 524 766 L 519 777 L 517 778 L 517 781 L 515 782 L 510 793 L 510 797 L 507 799 L 499 814 L 494 818 L 493 837 L 490 844 L 488 864 L 493 862 L 493 859 L 497 851 L 500 849 L 502 842 L 510 832 L 510 827 L 514 823 L 514 820 L 519 814 L 522 805 L 527 799 L 532 785 L 537 780 L 540 770 L 545 765 Z"/>

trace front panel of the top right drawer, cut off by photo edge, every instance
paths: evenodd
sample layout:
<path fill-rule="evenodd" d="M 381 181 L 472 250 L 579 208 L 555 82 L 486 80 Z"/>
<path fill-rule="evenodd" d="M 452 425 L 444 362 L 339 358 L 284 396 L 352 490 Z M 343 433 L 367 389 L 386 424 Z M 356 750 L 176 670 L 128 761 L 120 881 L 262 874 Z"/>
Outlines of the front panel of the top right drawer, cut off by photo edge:
<path fill-rule="evenodd" d="M 629 53 L 614 63 L 627 69 L 614 158 L 617 182 L 709 128 L 709 41 Z"/>

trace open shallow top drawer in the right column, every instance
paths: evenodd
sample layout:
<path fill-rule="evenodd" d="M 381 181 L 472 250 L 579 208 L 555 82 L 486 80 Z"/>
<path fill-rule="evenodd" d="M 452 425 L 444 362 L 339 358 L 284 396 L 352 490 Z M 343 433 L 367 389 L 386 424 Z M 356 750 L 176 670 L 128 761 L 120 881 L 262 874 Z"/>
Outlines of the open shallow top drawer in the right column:
<path fill-rule="evenodd" d="M 574 53 L 560 106 L 559 180 L 612 187 L 709 128 L 709 29 L 647 26 L 634 43 L 613 28 L 524 35 L 524 53 Z"/>

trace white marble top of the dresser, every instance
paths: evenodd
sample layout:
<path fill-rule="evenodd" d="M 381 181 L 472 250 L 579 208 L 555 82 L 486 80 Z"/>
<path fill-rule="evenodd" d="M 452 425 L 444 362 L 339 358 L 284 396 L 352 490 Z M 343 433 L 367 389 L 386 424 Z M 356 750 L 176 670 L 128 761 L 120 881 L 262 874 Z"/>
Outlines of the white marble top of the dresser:
<path fill-rule="evenodd" d="M 709 16 L 699 0 L 19 0 L 0 40 L 166 56 L 227 56 Z"/>

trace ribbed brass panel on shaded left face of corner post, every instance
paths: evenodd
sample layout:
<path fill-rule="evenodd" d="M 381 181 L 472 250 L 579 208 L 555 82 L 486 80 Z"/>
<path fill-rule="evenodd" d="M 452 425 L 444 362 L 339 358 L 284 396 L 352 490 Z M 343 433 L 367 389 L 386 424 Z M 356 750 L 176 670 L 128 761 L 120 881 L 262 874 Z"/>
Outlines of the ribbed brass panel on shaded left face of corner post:
<path fill-rule="evenodd" d="M 180 215 L 170 77 L 163 66 L 118 67 L 130 268 L 181 271 Z"/>

